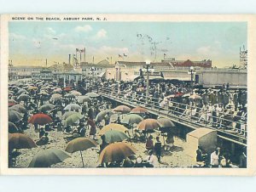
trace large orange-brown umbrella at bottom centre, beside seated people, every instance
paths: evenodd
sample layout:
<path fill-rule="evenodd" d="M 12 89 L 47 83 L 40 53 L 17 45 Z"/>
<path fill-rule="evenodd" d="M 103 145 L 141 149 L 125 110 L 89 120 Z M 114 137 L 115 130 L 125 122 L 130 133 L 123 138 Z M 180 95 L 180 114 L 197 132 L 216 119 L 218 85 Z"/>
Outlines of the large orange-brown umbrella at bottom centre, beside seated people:
<path fill-rule="evenodd" d="M 108 144 L 99 156 L 99 163 L 122 161 L 130 155 L 135 155 L 136 149 L 123 142 Z"/>

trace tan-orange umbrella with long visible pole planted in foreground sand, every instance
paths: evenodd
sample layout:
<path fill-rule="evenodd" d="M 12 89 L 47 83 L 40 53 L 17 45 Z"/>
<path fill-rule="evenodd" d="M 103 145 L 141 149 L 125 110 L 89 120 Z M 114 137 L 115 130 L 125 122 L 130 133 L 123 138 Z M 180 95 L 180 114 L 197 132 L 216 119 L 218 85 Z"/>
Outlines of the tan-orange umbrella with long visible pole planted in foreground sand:
<path fill-rule="evenodd" d="M 82 155 L 82 150 L 88 150 L 92 147 L 96 147 L 96 145 L 97 145 L 97 143 L 90 138 L 75 138 L 67 144 L 66 151 L 68 153 L 80 151 L 80 155 L 81 155 L 81 159 L 82 159 L 83 167 L 84 167 L 84 159 L 83 159 L 83 155 Z"/>

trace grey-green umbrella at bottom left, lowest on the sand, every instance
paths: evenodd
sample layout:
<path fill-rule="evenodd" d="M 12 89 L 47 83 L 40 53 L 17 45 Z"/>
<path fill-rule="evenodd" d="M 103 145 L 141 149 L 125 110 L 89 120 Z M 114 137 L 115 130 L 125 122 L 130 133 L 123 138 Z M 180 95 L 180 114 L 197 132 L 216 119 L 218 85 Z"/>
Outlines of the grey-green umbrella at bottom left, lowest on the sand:
<path fill-rule="evenodd" d="M 50 167 L 56 163 L 66 160 L 68 155 L 65 151 L 59 149 L 40 150 L 35 155 L 28 167 Z"/>

